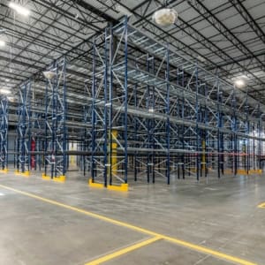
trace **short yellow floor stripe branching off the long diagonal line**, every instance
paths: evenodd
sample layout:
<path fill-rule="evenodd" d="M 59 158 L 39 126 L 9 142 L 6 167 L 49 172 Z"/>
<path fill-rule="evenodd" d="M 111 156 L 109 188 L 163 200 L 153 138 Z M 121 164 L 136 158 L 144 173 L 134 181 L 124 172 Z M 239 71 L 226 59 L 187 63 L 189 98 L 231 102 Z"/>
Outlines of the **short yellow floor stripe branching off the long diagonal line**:
<path fill-rule="evenodd" d="M 103 262 L 110 261 L 110 260 L 112 260 L 114 258 L 117 258 L 118 256 L 121 256 L 123 254 L 132 252 L 133 250 L 136 250 L 136 249 L 138 249 L 138 248 L 140 248 L 142 246 L 148 246 L 149 244 L 152 244 L 152 243 L 154 243 L 155 241 L 157 241 L 159 239 L 161 239 L 161 238 L 160 237 L 155 237 L 155 238 L 152 238 L 152 239 L 141 241 L 140 243 L 134 244 L 132 246 L 125 247 L 123 249 L 118 250 L 117 252 L 105 255 L 105 256 L 103 256 L 103 257 L 101 257 L 99 259 L 96 259 L 94 261 L 89 261 L 85 265 L 98 265 L 98 264 L 101 264 Z"/>

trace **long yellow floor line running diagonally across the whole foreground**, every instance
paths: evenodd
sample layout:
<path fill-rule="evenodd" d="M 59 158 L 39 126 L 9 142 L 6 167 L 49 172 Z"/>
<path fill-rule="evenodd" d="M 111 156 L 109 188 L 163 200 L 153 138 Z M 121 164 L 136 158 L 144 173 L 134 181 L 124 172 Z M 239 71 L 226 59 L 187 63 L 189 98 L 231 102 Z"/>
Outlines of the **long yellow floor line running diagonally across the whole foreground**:
<path fill-rule="evenodd" d="M 130 224 L 130 223 L 120 222 L 120 221 L 117 221 L 115 219 L 112 219 L 112 218 L 109 218 L 109 217 L 106 217 L 106 216 L 101 216 L 101 215 L 98 215 L 98 214 L 95 214 L 95 213 L 92 213 L 92 212 L 88 212 L 87 210 L 84 210 L 84 209 L 81 209 L 81 208 L 72 207 L 70 205 L 66 205 L 66 204 L 61 203 L 61 202 L 57 202 L 57 201 L 49 200 L 49 199 L 46 199 L 46 198 L 42 198 L 41 196 L 37 196 L 37 195 L 34 195 L 32 193 L 26 193 L 26 192 L 23 192 L 23 191 L 19 191 L 17 189 L 11 188 L 9 186 L 0 185 L 0 187 L 2 187 L 4 189 L 7 189 L 7 190 L 10 190 L 10 191 L 13 191 L 15 193 L 20 193 L 20 194 L 26 195 L 28 197 L 31 197 L 31 198 L 34 198 L 34 199 L 37 199 L 37 200 L 40 200 L 40 201 L 45 201 L 45 202 L 48 202 L 50 204 L 60 206 L 62 208 L 68 208 L 68 209 L 71 209 L 71 210 L 73 210 L 75 212 L 79 212 L 79 213 L 84 214 L 86 216 L 95 217 L 97 219 L 100 219 L 100 220 L 108 222 L 108 223 L 113 223 L 113 224 L 116 224 L 118 226 L 126 227 L 126 228 L 129 228 L 129 229 L 132 229 L 133 231 L 139 231 L 141 233 L 145 233 L 145 234 L 148 234 L 150 236 L 154 236 L 154 237 L 158 237 L 158 238 L 161 238 L 161 239 L 165 239 L 165 240 L 168 240 L 168 241 L 170 241 L 172 243 L 177 244 L 178 246 L 188 247 L 188 248 L 193 249 L 193 250 L 195 250 L 197 252 L 201 252 L 203 254 L 209 254 L 209 255 L 215 256 L 218 259 L 235 262 L 235 263 L 241 264 L 241 265 L 257 265 L 254 262 L 242 260 L 242 259 L 239 259 L 239 258 L 237 258 L 235 256 L 231 256 L 231 255 L 228 255 L 228 254 L 223 254 L 222 252 L 218 252 L 218 251 L 210 249 L 208 247 L 195 245 L 193 243 L 190 243 L 190 242 L 187 242 L 187 241 L 183 241 L 183 240 L 180 240 L 180 239 L 176 239 L 176 238 L 171 238 L 171 237 L 165 236 L 163 234 L 156 233 L 154 231 L 149 231 L 149 230 L 146 230 L 144 228 L 140 228 L 139 226 L 135 226 L 135 225 Z"/>

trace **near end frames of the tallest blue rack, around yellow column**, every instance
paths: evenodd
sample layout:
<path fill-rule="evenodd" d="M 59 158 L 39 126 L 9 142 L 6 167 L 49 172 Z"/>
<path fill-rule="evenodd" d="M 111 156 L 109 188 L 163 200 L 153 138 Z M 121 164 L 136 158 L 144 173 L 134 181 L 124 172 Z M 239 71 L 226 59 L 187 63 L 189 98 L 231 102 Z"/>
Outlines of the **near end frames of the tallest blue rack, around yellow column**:
<path fill-rule="evenodd" d="M 100 179 L 104 186 L 111 186 L 114 179 L 127 183 L 127 76 L 125 73 L 123 77 L 119 77 L 117 73 L 118 53 L 125 57 L 122 64 L 127 72 L 126 19 L 122 24 L 119 28 L 121 37 L 117 40 L 116 50 L 113 50 L 115 28 L 106 28 L 105 33 L 94 40 L 91 175 L 93 182 L 95 178 Z M 117 84 L 119 95 L 114 95 L 113 85 Z M 118 109 L 115 110 L 116 104 Z M 123 133 L 117 134 L 117 124 L 120 123 L 123 125 Z M 122 139 L 122 142 L 119 139 Z M 118 156 L 117 147 L 122 149 Z"/>

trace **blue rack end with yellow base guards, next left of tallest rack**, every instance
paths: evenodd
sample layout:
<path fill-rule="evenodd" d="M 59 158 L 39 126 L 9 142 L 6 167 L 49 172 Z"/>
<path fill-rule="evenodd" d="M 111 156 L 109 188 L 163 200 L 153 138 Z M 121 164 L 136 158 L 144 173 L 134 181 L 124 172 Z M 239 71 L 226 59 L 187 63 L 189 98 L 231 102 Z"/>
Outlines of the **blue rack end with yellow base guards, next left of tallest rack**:
<path fill-rule="evenodd" d="M 44 178 L 64 181 L 67 168 L 66 62 L 63 57 L 47 69 L 45 91 Z"/>

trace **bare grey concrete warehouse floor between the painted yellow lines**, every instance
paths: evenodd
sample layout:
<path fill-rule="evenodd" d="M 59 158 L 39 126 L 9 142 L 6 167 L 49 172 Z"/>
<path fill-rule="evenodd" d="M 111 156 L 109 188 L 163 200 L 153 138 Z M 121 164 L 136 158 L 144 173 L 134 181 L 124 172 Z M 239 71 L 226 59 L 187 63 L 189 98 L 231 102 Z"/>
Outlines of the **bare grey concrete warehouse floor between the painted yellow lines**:
<path fill-rule="evenodd" d="M 1 265 L 86 264 L 152 238 L 6 187 L 265 264 L 265 208 L 257 208 L 265 201 L 264 175 L 215 178 L 208 184 L 205 179 L 171 186 L 136 183 L 128 193 L 89 188 L 87 180 L 74 175 L 61 184 L 42 180 L 41 174 L 1 173 Z M 103 264 L 234 263 L 159 239 Z"/>

